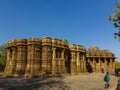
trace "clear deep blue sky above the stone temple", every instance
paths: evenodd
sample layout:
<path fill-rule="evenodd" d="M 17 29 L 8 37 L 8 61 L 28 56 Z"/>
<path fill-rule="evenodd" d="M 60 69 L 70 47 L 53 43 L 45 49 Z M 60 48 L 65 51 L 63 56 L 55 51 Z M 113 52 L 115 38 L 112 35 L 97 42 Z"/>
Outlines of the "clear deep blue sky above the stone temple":
<path fill-rule="evenodd" d="M 117 30 L 108 21 L 115 0 L 0 0 L 0 44 L 15 38 L 65 38 L 109 49 L 120 58 Z"/>

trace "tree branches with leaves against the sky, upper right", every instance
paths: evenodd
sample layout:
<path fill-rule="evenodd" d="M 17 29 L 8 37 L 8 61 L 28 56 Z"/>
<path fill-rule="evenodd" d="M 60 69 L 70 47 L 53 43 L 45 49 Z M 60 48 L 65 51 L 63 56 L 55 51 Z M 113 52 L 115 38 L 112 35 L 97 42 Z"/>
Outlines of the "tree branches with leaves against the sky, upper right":
<path fill-rule="evenodd" d="M 114 14 L 109 15 L 109 21 L 114 22 L 114 27 L 118 29 L 118 32 L 114 33 L 114 38 L 120 41 L 120 3 L 116 2 L 116 9 Z"/>

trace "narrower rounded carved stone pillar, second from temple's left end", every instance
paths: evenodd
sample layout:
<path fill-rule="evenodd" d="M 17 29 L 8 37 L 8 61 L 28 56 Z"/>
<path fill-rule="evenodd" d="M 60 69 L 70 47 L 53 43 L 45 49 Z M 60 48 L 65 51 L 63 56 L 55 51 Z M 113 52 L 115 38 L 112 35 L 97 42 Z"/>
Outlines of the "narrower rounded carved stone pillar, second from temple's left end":
<path fill-rule="evenodd" d="M 17 39 L 17 65 L 16 75 L 23 75 L 27 65 L 27 40 Z"/>

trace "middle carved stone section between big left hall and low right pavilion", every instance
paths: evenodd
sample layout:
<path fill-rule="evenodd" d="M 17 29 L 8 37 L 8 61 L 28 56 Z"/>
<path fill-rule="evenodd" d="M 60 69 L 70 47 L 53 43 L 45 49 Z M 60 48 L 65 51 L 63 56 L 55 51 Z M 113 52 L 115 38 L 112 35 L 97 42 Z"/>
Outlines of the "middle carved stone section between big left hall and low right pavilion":
<path fill-rule="evenodd" d="M 81 45 L 69 44 L 71 53 L 71 75 L 86 72 L 86 49 Z"/>

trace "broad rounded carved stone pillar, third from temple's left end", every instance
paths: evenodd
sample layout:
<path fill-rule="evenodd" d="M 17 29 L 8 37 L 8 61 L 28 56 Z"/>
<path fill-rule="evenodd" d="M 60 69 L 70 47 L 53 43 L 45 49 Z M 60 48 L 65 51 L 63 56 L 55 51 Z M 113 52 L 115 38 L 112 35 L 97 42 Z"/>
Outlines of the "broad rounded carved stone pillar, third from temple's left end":
<path fill-rule="evenodd" d="M 39 76 L 41 72 L 41 40 L 29 38 L 27 40 L 27 68 L 25 76 Z"/>

